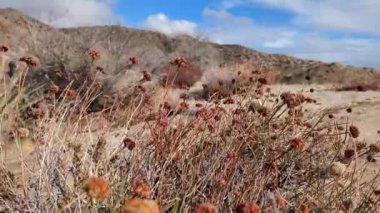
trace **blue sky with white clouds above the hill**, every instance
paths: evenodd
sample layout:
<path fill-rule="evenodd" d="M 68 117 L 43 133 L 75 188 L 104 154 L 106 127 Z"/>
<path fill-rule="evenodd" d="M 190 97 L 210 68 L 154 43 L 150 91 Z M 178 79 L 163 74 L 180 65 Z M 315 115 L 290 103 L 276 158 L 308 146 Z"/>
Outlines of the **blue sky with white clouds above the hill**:
<path fill-rule="evenodd" d="M 380 68 L 380 0 L 1 0 L 56 27 L 117 24 Z"/>

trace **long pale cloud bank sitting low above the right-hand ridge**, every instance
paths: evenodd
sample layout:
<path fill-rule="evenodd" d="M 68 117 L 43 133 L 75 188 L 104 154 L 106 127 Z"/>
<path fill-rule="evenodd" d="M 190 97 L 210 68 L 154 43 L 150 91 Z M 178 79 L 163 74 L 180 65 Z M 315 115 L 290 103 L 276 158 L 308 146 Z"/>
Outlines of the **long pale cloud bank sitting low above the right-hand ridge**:
<path fill-rule="evenodd" d="M 297 27 L 268 27 L 228 11 L 205 9 L 205 24 L 199 29 L 213 41 L 241 44 L 269 53 L 300 58 L 380 67 L 380 38 L 329 38 Z"/>

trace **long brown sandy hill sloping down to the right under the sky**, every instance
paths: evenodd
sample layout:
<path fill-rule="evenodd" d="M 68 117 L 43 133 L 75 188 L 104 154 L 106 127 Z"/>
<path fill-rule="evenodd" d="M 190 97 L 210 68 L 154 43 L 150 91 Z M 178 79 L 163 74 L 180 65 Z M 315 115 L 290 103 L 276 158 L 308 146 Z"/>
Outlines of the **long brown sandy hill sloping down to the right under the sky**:
<path fill-rule="evenodd" d="M 187 57 L 201 70 L 228 72 L 270 69 L 281 83 L 372 83 L 380 72 L 337 63 L 265 54 L 239 45 L 218 45 L 189 36 L 168 37 L 161 33 L 121 26 L 57 29 L 13 9 L 0 10 L 1 45 L 15 56 L 37 56 L 44 68 L 64 64 L 77 69 L 91 49 L 101 52 L 108 74 L 126 69 L 129 57 L 138 56 L 141 69 L 155 70 L 175 57 Z"/>

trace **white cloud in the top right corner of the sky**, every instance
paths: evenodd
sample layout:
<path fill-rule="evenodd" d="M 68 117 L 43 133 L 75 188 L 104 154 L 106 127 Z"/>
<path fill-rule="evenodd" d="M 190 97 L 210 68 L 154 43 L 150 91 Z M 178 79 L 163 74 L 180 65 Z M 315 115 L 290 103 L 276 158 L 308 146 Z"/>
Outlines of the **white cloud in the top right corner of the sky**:
<path fill-rule="evenodd" d="M 379 0 L 225 0 L 231 8 L 260 4 L 294 13 L 293 23 L 308 28 L 339 32 L 380 34 Z"/>

